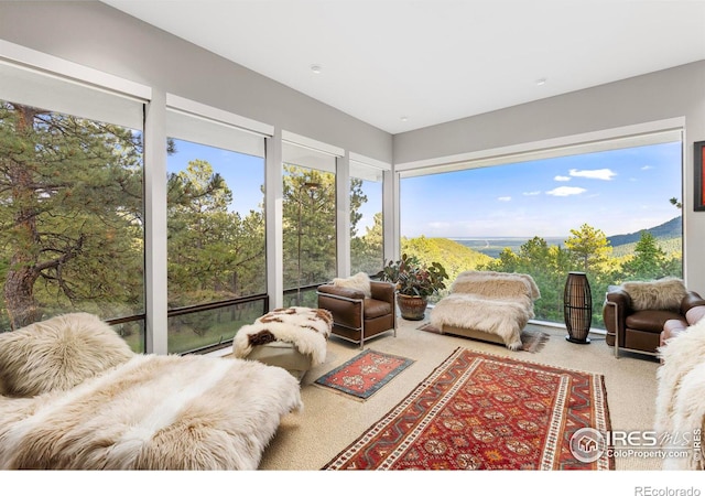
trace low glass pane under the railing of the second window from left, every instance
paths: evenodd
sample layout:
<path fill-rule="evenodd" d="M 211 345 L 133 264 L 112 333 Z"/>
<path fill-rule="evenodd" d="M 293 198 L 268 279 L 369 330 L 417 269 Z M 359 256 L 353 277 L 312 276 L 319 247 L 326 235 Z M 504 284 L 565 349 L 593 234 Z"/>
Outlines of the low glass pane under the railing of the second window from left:
<path fill-rule="evenodd" d="M 264 300 L 202 310 L 169 319 L 169 353 L 180 354 L 231 341 L 264 312 Z"/>

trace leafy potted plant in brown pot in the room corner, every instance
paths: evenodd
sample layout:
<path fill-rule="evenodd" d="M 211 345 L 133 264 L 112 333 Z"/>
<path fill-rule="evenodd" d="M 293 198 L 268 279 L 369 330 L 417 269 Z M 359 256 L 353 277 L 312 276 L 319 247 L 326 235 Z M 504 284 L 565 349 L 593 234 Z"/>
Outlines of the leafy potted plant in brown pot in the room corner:
<path fill-rule="evenodd" d="M 381 272 L 383 281 L 397 285 L 397 304 L 403 319 L 421 321 L 424 317 L 429 296 L 445 289 L 448 279 L 438 262 L 423 265 L 415 256 L 403 254 L 401 260 L 389 261 Z"/>

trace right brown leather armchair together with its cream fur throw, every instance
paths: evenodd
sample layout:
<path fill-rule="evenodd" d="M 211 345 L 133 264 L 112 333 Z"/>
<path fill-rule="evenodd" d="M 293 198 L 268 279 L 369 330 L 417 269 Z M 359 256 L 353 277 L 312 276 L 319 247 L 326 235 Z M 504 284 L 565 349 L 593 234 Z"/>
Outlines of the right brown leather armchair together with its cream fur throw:
<path fill-rule="evenodd" d="M 664 324 L 685 322 L 687 311 L 698 305 L 705 305 L 705 300 L 676 278 L 610 287 L 603 306 L 606 342 L 617 357 L 620 349 L 657 356 Z"/>

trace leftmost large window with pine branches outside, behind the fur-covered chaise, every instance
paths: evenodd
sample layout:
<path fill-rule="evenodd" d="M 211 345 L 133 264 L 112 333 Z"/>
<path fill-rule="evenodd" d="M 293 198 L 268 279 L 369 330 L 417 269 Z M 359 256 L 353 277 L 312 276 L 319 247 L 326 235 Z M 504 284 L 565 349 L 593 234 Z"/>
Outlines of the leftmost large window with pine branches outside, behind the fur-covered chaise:
<path fill-rule="evenodd" d="M 143 103 L 0 63 L 2 331 L 118 320 L 144 349 Z"/>

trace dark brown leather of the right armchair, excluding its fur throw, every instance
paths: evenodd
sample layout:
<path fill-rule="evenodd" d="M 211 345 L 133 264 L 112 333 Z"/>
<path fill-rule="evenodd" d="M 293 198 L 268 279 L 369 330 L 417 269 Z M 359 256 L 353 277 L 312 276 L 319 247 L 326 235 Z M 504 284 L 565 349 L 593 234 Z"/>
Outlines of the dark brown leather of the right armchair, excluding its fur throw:
<path fill-rule="evenodd" d="M 687 291 L 680 309 L 634 310 L 627 291 L 621 287 L 610 287 L 603 308 L 606 342 L 615 347 L 616 357 L 619 357 L 620 349 L 657 356 L 666 321 L 677 320 L 687 325 L 685 314 L 698 305 L 705 305 L 705 300 L 695 291 Z"/>

